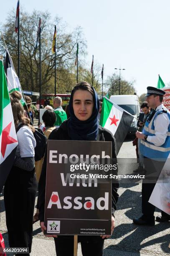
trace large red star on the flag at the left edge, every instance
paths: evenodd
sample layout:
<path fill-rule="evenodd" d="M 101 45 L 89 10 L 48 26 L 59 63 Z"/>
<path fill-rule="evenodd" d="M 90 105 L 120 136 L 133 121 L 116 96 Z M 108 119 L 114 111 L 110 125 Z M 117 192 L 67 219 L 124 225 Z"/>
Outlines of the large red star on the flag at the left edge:
<path fill-rule="evenodd" d="M 8 144 L 17 142 L 14 138 L 10 137 L 10 128 L 12 122 L 10 122 L 2 131 L 1 153 L 5 156 L 5 151 Z"/>

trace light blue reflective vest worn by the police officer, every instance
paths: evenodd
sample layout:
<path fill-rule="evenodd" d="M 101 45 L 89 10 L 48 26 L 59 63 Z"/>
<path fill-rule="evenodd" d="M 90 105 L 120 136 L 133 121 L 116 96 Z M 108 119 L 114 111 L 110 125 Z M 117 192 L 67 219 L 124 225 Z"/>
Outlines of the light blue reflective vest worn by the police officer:
<path fill-rule="evenodd" d="M 157 115 L 165 113 L 165 110 L 157 110 L 152 120 L 148 120 L 145 123 L 142 133 L 147 136 L 155 136 L 155 126 L 154 120 Z M 170 120 L 170 112 L 167 110 L 167 116 Z M 170 154 L 170 125 L 168 126 L 167 137 L 165 143 L 161 146 L 155 146 L 153 143 L 145 140 L 140 141 L 140 152 L 143 156 L 156 161 L 166 161 L 168 155 Z"/>

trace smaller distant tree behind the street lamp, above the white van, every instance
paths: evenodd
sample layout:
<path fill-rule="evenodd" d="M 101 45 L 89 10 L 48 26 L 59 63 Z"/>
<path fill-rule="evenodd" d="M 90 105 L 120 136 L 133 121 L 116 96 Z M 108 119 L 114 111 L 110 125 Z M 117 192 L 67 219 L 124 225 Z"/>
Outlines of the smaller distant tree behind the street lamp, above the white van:
<path fill-rule="evenodd" d="M 133 86 L 134 81 L 128 82 L 125 79 L 120 79 L 120 94 L 132 95 L 135 92 Z M 119 95 L 119 75 L 112 74 L 107 77 L 105 82 L 105 91 L 109 91 L 109 95 Z"/>

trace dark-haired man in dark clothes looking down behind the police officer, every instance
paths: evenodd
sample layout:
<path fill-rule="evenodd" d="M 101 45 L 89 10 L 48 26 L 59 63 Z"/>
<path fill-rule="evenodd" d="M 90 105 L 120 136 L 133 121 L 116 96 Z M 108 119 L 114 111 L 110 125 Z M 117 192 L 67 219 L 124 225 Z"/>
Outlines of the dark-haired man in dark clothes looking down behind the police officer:
<path fill-rule="evenodd" d="M 150 114 L 150 108 L 147 105 L 147 101 L 144 101 L 140 107 L 142 109 L 142 113 L 140 113 L 139 118 L 137 120 L 137 127 L 139 127 L 140 132 L 142 132 L 145 122 Z M 136 144 L 137 156 L 139 158 L 139 167 L 134 172 L 143 172 L 144 164 L 143 164 L 143 155 L 140 152 L 140 139 L 137 137 L 134 139 Z M 134 142 L 134 141 L 133 141 Z"/>

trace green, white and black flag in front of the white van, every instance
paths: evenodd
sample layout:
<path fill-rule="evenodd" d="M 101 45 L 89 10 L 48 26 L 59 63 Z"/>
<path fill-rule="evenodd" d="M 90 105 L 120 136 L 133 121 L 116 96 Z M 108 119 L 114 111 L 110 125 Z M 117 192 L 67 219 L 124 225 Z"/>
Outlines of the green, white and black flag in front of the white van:
<path fill-rule="evenodd" d="M 115 137 L 117 154 L 127 136 L 133 118 L 127 111 L 114 104 L 107 97 L 104 97 L 100 125 L 111 131 Z"/>

